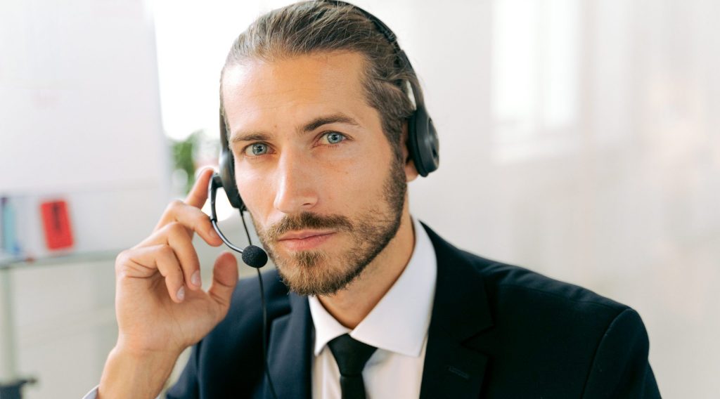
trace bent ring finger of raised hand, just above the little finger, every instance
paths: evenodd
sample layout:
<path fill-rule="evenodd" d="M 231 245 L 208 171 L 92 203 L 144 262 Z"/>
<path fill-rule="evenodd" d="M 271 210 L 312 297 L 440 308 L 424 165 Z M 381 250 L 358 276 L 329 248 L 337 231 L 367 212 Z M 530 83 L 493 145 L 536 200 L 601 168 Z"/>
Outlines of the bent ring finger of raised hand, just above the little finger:
<path fill-rule="evenodd" d="M 166 224 L 148 239 L 138 244 L 138 247 L 151 247 L 153 245 L 168 245 L 173 249 L 183 272 L 186 285 L 191 290 L 197 290 L 200 282 L 200 261 L 192 245 L 192 235 L 185 226 L 178 222 Z"/>

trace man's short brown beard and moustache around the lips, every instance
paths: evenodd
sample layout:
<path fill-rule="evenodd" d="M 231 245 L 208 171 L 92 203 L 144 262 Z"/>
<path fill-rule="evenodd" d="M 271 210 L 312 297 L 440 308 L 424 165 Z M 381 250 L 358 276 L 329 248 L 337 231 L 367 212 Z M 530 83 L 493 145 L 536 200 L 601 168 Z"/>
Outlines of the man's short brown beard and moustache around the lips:
<path fill-rule="evenodd" d="M 350 219 L 340 214 L 318 215 L 312 212 L 286 215 L 263 229 L 255 222 L 263 247 L 289 290 L 299 295 L 332 295 L 346 288 L 365 270 L 400 229 L 405 193 L 408 189 L 401 157 L 393 157 L 379 201 L 362 216 Z M 350 237 L 349 247 L 339 257 L 324 250 L 282 254 L 274 243 L 282 234 L 301 229 L 333 229 Z"/>

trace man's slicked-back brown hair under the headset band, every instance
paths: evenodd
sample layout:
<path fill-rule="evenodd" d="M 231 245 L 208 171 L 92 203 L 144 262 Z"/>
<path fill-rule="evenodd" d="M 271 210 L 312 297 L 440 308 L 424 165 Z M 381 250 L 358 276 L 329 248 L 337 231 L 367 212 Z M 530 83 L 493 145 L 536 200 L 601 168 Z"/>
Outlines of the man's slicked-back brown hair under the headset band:
<path fill-rule="evenodd" d="M 382 129 L 402 162 L 402 124 L 413 113 L 408 82 L 418 78 L 397 56 L 395 47 L 365 14 L 330 1 L 302 1 L 258 17 L 233 42 L 220 75 L 220 109 L 225 70 L 246 60 L 272 62 L 318 52 L 359 52 L 364 57 L 362 84 L 366 103 L 380 114 Z M 419 87 L 419 85 L 417 86 Z M 227 129 L 230 132 L 230 129 Z"/>

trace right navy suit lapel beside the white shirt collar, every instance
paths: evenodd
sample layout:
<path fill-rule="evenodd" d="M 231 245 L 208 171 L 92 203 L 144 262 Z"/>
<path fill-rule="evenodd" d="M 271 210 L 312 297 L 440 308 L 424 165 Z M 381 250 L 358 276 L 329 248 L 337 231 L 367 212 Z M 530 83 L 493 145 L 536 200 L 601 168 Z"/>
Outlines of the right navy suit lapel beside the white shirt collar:
<path fill-rule="evenodd" d="M 435 247 L 438 280 L 420 398 L 478 398 L 488 359 L 465 343 L 492 326 L 485 286 L 458 249 L 425 229 Z"/>

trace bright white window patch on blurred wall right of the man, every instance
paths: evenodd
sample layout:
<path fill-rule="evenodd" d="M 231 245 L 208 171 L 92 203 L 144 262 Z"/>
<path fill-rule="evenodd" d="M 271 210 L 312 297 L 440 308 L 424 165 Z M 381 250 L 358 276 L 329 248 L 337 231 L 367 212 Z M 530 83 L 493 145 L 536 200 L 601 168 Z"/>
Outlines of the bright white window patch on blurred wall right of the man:
<path fill-rule="evenodd" d="M 580 66 L 578 3 L 493 3 L 492 115 L 498 142 L 527 142 L 574 126 Z"/>

